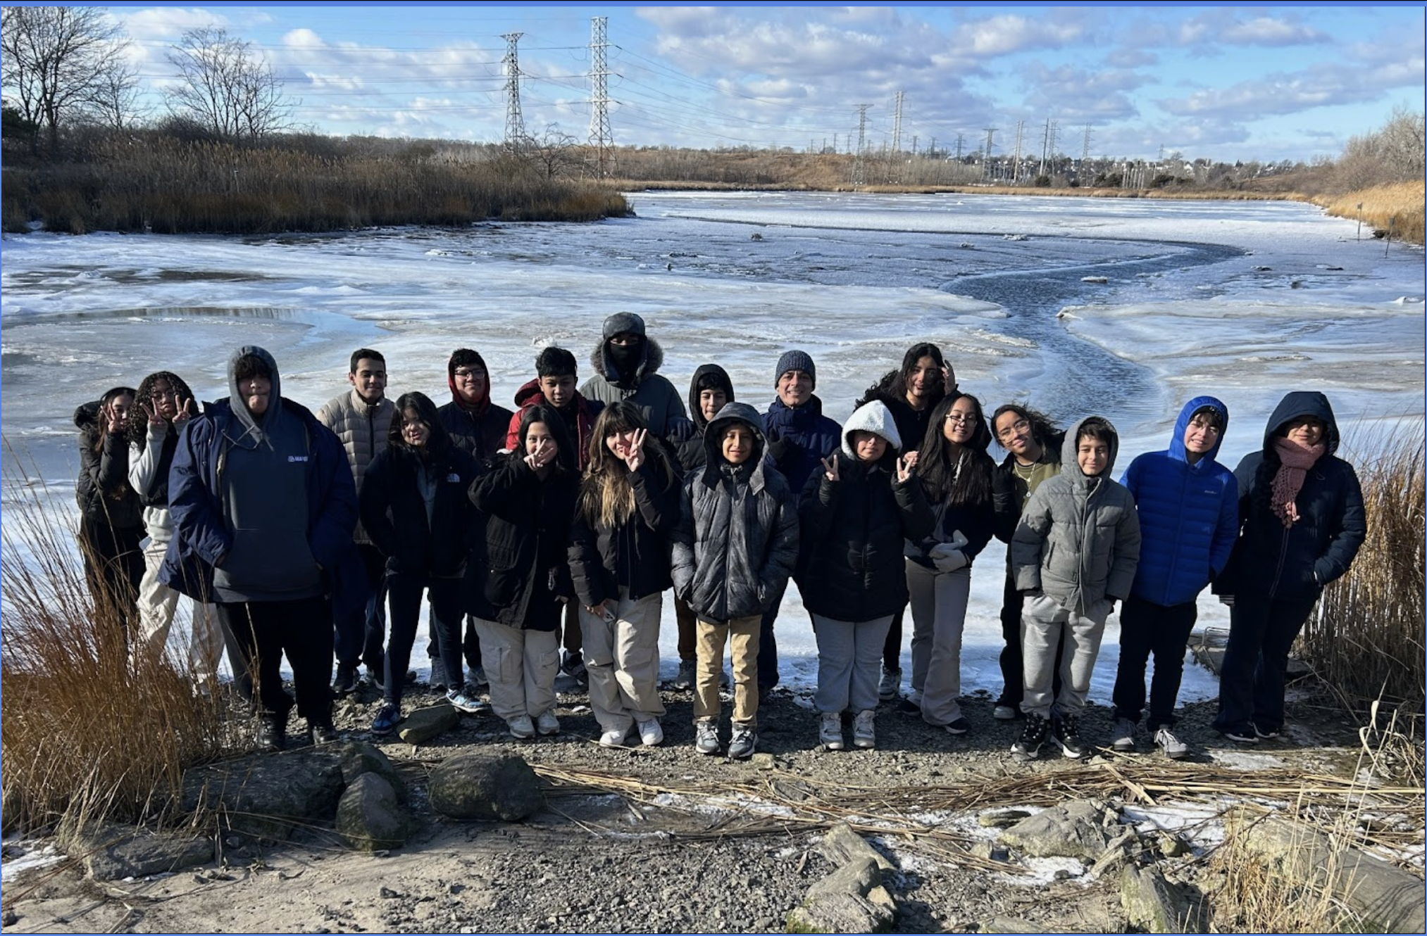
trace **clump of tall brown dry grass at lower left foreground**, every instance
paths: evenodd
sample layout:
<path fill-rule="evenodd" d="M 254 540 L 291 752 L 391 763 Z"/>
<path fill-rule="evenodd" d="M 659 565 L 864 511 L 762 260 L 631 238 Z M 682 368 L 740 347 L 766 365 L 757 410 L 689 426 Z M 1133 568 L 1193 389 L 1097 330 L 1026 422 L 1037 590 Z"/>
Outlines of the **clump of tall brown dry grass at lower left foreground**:
<path fill-rule="evenodd" d="M 67 517 L 6 477 L 0 529 L 0 786 L 6 826 L 163 815 L 183 770 L 234 751 L 223 693 L 171 661 L 131 662 L 96 601 Z M 237 728 L 237 726 L 234 726 Z"/>

